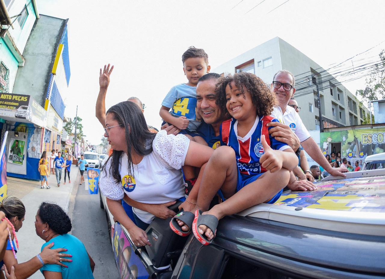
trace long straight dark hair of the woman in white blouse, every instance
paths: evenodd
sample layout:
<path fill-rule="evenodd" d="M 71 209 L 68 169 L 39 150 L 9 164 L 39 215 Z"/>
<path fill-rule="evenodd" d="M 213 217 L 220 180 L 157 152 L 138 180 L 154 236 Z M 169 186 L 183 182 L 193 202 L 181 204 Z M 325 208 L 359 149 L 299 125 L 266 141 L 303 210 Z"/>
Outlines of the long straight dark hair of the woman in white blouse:
<path fill-rule="evenodd" d="M 113 115 L 113 119 L 116 120 L 118 124 L 123 124 L 125 129 L 128 168 L 130 175 L 134 176 L 134 164 L 132 163 L 131 151 L 134 150 L 141 156 L 150 154 L 152 152 L 152 141 L 156 134 L 151 133 L 148 130 L 146 119 L 144 119 L 144 115 L 137 104 L 129 101 L 121 102 L 109 108 L 106 115 L 109 113 Z M 124 151 L 112 151 L 111 156 L 109 156 L 103 166 L 103 171 L 105 171 L 105 174 L 107 175 L 105 166 L 109 160 L 112 160 L 109 173 L 117 183 L 120 183 L 121 181 L 119 162 L 123 154 Z"/>

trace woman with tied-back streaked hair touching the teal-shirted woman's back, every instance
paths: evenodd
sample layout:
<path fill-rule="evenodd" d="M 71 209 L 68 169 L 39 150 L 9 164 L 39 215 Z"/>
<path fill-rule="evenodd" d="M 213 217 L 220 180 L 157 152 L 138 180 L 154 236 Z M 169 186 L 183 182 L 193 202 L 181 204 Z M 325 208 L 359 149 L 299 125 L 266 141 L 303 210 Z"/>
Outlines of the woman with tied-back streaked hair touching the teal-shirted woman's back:
<path fill-rule="evenodd" d="M 0 211 L 4 212 L 5 217 L 10 220 L 11 224 L 15 228 L 15 232 L 21 229 L 25 216 L 25 207 L 21 200 L 13 196 L 7 196 L 0 203 Z M 11 271 L 11 267 L 15 269 L 15 275 L 17 279 L 28 278 L 36 271 L 38 271 L 44 264 L 60 264 L 63 267 L 67 267 L 65 264 L 60 262 L 61 257 L 71 257 L 69 254 L 61 254 L 61 252 L 67 251 L 67 249 L 58 248 L 50 249 L 53 245 L 45 247 L 44 250 L 36 257 L 33 257 L 27 262 L 18 263 L 15 258 L 17 253 L 17 246 L 15 241 L 7 242 L 7 247 L 5 250 L 3 261 L 0 262 L 0 265 L 7 267 L 8 271 Z M 14 254 L 15 253 L 15 254 Z M 62 261 L 69 262 L 69 259 L 62 259 Z M 3 272 L 1 272 L 0 278 L 3 277 Z"/>

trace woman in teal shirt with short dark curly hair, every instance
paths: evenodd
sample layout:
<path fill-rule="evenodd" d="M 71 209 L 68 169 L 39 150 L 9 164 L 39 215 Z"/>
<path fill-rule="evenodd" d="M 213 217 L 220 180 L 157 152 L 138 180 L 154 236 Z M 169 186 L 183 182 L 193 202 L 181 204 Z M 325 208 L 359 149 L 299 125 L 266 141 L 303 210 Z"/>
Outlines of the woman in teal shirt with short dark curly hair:
<path fill-rule="evenodd" d="M 45 246 L 55 242 L 53 248 L 62 247 L 68 249 L 72 255 L 68 268 L 63 268 L 57 264 L 44 264 L 40 271 L 45 279 L 94 279 L 95 262 L 85 250 L 84 244 L 68 234 L 72 229 L 71 220 L 63 208 L 54 203 L 43 202 L 36 214 L 35 220 L 36 234 L 43 240 Z"/>

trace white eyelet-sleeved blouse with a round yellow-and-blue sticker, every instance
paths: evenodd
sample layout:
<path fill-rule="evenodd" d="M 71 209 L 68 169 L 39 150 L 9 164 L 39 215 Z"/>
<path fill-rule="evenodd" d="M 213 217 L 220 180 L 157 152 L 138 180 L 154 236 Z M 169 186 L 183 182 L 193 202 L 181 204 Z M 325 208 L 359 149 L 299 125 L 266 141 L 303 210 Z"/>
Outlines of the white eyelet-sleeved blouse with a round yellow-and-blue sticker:
<path fill-rule="evenodd" d="M 102 193 L 112 200 L 121 200 L 124 194 L 141 203 L 166 203 L 184 197 L 184 181 L 181 168 L 184 165 L 190 140 L 183 134 L 167 135 L 160 131 L 152 142 L 153 151 L 134 165 L 129 173 L 127 154 L 120 160 L 121 182 L 116 183 L 109 174 L 111 161 L 100 176 L 99 187 Z M 154 215 L 132 208 L 143 222 L 149 224 Z"/>

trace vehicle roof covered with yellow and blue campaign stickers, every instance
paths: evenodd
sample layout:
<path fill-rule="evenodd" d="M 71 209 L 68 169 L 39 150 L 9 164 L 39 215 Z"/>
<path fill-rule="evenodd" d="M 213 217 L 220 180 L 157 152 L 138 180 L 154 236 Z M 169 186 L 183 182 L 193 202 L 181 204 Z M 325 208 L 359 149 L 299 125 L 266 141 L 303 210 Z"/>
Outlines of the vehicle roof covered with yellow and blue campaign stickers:
<path fill-rule="evenodd" d="M 365 176 L 365 174 L 379 174 Z M 348 173 L 315 183 L 315 191 L 285 191 L 274 204 L 238 213 L 318 229 L 385 236 L 385 170 Z M 363 177 L 362 177 L 363 176 Z"/>

